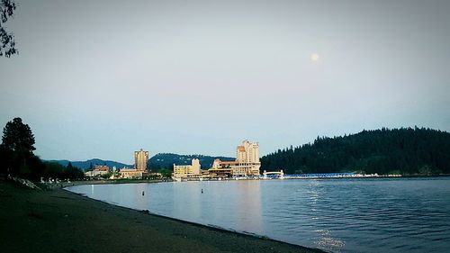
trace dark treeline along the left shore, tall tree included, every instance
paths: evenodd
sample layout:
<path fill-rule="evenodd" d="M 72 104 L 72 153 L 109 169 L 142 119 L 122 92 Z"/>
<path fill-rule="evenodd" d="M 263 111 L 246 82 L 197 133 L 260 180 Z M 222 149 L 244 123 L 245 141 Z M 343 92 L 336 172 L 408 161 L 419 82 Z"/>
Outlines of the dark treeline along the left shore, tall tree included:
<path fill-rule="evenodd" d="M 21 176 L 30 179 L 44 178 L 82 178 L 81 169 L 71 163 L 62 166 L 58 162 L 46 162 L 33 154 L 34 135 L 21 118 L 14 118 L 4 126 L 0 144 L 0 174 Z"/>

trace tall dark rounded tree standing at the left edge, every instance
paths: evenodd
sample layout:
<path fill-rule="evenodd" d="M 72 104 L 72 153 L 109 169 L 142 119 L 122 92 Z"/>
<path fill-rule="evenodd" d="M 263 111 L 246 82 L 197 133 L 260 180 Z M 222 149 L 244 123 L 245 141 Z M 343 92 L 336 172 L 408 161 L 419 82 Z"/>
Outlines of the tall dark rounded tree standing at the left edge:
<path fill-rule="evenodd" d="M 14 118 L 4 126 L 1 151 L 5 157 L 6 173 L 29 174 L 31 171 L 27 161 L 34 158 L 34 135 L 30 126 L 24 124 L 21 118 Z"/>

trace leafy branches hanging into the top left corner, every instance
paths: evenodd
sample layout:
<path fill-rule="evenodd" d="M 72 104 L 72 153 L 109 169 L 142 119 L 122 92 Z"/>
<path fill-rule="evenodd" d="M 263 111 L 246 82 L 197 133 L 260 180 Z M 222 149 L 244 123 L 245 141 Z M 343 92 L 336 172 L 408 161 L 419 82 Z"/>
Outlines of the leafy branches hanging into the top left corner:
<path fill-rule="evenodd" d="M 15 8 L 14 0 L 0 0 L 0 56 L 7 58 L 19 53 L 15 48 L 13 32 L 4 29 L 4 23 L 14 17 Z"/>

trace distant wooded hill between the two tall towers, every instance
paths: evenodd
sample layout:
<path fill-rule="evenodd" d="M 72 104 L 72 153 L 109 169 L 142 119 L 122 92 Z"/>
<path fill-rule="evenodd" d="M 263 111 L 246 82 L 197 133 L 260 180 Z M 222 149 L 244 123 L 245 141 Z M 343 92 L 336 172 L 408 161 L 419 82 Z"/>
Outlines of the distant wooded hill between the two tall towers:
<path fill-rule="evenodd" d="M 175 165 L 190 165 L 193 158 L 200 160 L 200 165 L 203 169 L 210 168 L 215 158 L 219 158 L 222 161 L 234 161 L 236 158 L 227 157 L 210 157 L 203 155 L 177 155 L 171 153 L 156 154 L 152 158 L 148 159 L 148 165 L 151 169 L 168 168 L 172 169 Z"/>

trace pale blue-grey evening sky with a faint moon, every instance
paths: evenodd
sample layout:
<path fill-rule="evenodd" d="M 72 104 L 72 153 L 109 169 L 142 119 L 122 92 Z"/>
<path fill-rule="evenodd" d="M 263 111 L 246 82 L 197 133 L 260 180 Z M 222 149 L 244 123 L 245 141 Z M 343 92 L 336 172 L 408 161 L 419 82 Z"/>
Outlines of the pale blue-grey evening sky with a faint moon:
<path fill-rule="evenodd" d="M 0 126 L 21 117 L 40 158 L 450 131 L 450 1 L 16 2 Z"/>

